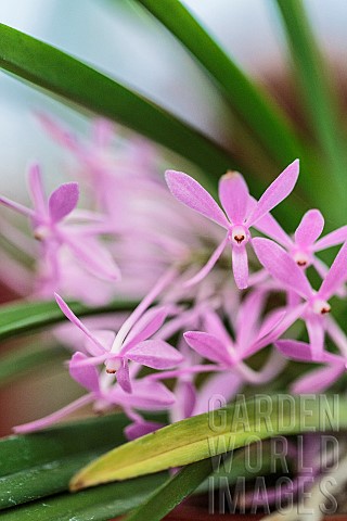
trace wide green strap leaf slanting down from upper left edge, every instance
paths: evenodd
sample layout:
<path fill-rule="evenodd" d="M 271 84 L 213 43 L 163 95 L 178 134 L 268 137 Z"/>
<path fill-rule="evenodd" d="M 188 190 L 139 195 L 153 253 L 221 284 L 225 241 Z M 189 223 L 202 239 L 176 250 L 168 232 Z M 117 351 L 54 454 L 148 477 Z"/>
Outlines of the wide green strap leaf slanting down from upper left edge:
<path fill-rule="evenodd" d="M 146 136 L 220 176 L 232 157 L 216 142 L 142 94 L 75 58 L 0 24 L 0 67 L 42 87 L 61 100 L 88 109 Z"/>

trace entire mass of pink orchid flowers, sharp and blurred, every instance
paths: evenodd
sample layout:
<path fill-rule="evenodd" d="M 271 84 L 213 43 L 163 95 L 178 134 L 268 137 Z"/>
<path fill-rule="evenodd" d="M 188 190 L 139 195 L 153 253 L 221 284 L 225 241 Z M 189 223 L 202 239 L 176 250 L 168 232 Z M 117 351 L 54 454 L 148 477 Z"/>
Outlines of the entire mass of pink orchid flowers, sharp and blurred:
<path fill-rule="evenodd" d="M 33 205 L 0 202 L 28 218 L 37 250 L 13 225 L 5 239 L 36 258 L 36 271 L 17 262 L 14 272 L 4 257 L 2 277 L 27 298 L 55 295 L 70 322 L 55 334 L 67 339 L 69 373 L 87 394 L 16 432 L 92 404 L 98 412 L 121 409 L 130 419 L 126 435 L 134 439 L 162 425 L 145 411 L 166 410 L 171 421 L 207 411 L 220 405 L 214 396 L 227 403 L 246 385 L 275 381 L 288 360 L 318 364 L 294 379 L 293 393 L 323 392 L 346 371 L 347 338 L 330 312 L 331 300 L 346 294 L 347 226 L 320 238 L 324 218 L 310 209 L 292 237 L 271 214 L 294 190 L 298 160 L 258 201 L 241 174 L 227 173 L 219 205 L 187 174 L 167 170 L 164 180 L 154 150 L 117 140 L 107 122 L 97 120 L 91 139 L 80 140 L 39 117 L 69 154 L 87 209 L 77 208 L 75 181 L 47 198 L 33 165 Z M 336 245 L 329 267 L 317 254 Z M 312 268 L 318 290 L 309 281 Z M 130 315 L 81 320 L 66 303 L 70 297 L 140 304 Z"/>

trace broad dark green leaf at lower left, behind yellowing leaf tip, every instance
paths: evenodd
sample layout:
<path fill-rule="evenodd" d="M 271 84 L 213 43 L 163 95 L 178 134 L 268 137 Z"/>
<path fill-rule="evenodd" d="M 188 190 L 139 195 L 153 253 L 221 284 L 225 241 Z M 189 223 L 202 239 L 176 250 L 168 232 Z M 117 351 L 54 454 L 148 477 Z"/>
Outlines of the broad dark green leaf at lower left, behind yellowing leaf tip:
<path fill-rule="evenodd" d="M 0 508 L 65 491 L 72 475 L 124 443 L 124 415 L 92 418 L 0 441 Z"/>

